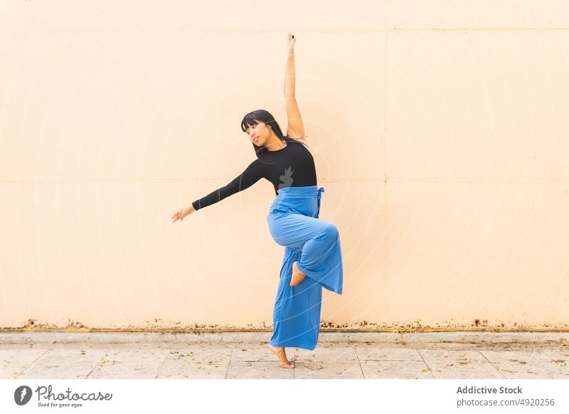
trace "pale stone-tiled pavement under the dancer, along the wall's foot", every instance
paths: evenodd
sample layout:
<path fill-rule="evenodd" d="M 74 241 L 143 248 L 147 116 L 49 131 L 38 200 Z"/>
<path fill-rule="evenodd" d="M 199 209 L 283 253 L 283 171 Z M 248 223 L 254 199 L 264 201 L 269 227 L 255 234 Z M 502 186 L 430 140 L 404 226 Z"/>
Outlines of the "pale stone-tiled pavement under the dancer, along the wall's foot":
<path fill-rule="evenodd" d="M 78 334 L 87 335 L 87 334 Z M 568 342 L 481 343 L 341 340 L 317 349 L 287 348 L 294 369 L 280 368 L 258 335 L 242 341 L 30 340 L 0 334 L 0 378 L 565 378 Z M 96 335 L 96 334 L 95 334 Z M 122 335 L 122 336 L 121 336 Z M 20 337 L 18 337 L 20 336 Z M 26 336 L 26 340 L 23 340 Z M 51 338 L 53 339 L 53 337 Z"/>

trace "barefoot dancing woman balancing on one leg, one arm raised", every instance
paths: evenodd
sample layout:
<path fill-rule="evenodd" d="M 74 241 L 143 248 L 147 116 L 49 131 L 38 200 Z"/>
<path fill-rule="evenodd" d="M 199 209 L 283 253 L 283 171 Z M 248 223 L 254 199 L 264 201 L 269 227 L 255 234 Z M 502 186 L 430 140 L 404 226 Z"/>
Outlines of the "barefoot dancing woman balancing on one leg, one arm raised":
<path fill-rule="evenodd" d="M 267 223 L 272 238 L 285 246 L 280 282 L 273 312 L 273 334 L 269 348 L 282 368 L 294 368 L 285 347 L 312 351 L 320 327 L 322 287 L 342 293 L 343 267 L 338 229 L 318 218 L 324 187 L 318 188 L 312 154 L 305 147 L 304 125 L 294 97 L 294 43 L 288 35 L 285 100 L 287 135 L 283 136 L 275 118 L 265 110 L 243 117 L 241 129 L 253 144 L 257 159 L 227 186 L 181 208 L 173 222 L 210 206 L 260 179 L 275 186 Z"/>

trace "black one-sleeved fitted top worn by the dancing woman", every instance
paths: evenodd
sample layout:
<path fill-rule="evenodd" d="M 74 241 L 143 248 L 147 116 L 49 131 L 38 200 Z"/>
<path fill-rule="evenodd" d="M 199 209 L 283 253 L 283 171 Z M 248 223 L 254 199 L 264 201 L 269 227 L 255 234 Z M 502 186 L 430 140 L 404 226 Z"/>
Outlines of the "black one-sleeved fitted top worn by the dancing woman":
<path fill-rule="evenodd" d="M 287 146 L 277 151 L 267 151 L 263 156 L 263 164 L 255 159 L 228 185 L 209 193 L 203 198 L 193 201 L 196 210 L 211 206 L 239 191 L 248 189 L 260 179 L 267 179 L 275 186 L 275 194 L 286 187 L 316 186 L 317 176 L 312 154 L 304 145 L 292 138 L 285 137 Z"/>

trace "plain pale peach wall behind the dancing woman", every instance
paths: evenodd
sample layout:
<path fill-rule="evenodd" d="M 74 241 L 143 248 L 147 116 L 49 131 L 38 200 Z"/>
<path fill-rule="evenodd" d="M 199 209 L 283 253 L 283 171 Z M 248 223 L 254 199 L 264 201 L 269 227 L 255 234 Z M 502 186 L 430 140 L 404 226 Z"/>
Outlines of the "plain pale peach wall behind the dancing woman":
<path fill-rule="evenodd" d="M 568 327 L 551 0 L 3 1 L 0 327 L 270 326 L 272 186 L 170 218 L 254 159 L 246 112 L 286 127 L 289 28 L 345 260 L 323 319 Z"/>

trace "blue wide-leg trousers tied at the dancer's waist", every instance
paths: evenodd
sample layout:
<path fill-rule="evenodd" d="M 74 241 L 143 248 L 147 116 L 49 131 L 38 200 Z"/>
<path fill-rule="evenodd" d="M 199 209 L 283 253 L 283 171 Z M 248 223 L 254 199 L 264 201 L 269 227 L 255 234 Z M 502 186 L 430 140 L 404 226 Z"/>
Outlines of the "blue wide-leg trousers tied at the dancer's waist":
<path fill-rule="evenodd" d="M 273 240 L 285 246 L 273 311 L 273 346 L 316 348 L 322 287 L 342 294 L 343 267 L 336 226 L 318 218 L 324 187 L 287 187 L 273 201 L 267 223 Z M 307 277 L 290 286 L 292 263 Z"/>

